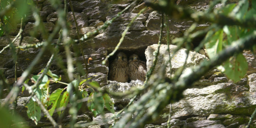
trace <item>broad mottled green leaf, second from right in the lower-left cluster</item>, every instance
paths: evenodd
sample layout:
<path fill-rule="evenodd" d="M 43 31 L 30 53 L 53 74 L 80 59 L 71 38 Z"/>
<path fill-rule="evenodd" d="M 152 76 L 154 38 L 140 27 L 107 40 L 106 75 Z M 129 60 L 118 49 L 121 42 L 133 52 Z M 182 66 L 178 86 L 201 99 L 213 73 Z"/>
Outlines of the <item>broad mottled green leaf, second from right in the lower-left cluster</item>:
<path fill-rule="evenodd" d="M 97 116 L 97 114 L 100 114 L 103 112 L 104 108 L 104 100 L 102 95 L 99 95 L 100 93 L 94 92 L 91 93 L 88 99 L 88 108 L 91 112 L 93 112 L 94 117 Z"/>

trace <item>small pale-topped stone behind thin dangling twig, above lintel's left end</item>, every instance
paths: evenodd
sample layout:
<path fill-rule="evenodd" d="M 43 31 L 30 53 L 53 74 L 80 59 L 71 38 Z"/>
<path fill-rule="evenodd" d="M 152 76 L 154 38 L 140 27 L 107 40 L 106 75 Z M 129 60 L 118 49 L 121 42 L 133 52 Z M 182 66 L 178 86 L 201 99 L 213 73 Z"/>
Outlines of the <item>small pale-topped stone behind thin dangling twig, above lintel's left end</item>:
<path fill-rule="evenodd" d="M 88 33 L 89 31 L 94 31 L 94 30 L 95 30 L 95 27 L 83 27 L 83 28 L 81 28 L 81 29 L 78 29 L 80 38 L 81 38 L 84 34 Z M 78 35 L 78 34 L 77 34 L 76 29 L 70 30 L 69 36 L 70 36 L 72 39 L 78 39 L 78 36 L 77 36 L 77 35 Z"/>

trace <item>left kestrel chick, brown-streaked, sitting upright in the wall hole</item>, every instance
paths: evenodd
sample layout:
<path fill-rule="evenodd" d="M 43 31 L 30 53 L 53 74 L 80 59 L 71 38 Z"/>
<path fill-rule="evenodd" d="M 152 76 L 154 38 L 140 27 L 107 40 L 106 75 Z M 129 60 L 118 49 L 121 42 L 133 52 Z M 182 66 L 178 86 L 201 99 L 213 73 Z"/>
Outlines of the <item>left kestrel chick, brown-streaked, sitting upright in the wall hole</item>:
<path fill-rule="evenodd" d="M 109 80 L 116 80 L 117 82 L 128 82 L 128 61 L 127 56 L 123 52 L 119 52 L 110 64 L 109 68 Z"/>

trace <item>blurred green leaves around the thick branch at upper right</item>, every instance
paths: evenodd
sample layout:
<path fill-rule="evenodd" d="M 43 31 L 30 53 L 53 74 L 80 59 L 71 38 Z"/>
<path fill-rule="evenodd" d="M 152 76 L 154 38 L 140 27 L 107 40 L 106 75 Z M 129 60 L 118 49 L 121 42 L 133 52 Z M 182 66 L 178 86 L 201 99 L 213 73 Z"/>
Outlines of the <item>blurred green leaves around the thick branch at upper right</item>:
<path fill-rule="evenodd" d="M 256 18 L 256 1 L 252 0 L 252 7 L 249 7 L 249 1 L 241 3 L 241 8 L 237 10 L 235 3 L 228 4 L 223 8 L 214 10 L 215 13 L 222 14 L 228 17 L 234 17 L 239 21 L 250 20 Z M 230 45 L 236 44 L 237 40 L 244 38 L 253 33 L 255 29 L 242 28 L 240 26 L 223 26 L 223 28 L 213 32 L 209 31 L 206 35 L 211 36 L 211 40 L 205 44 L 206 51 L 210 59 L 217 56 L 222 49 L 227 48 Z M 233 57 L 230 57 L 225 64 L 218 67 L 222 72 L 225 72 L 228 78 L 234 82 L 239 81 L 244 77 L 248 70 L 248 63 L 242 53 L 238 53 Z"/>

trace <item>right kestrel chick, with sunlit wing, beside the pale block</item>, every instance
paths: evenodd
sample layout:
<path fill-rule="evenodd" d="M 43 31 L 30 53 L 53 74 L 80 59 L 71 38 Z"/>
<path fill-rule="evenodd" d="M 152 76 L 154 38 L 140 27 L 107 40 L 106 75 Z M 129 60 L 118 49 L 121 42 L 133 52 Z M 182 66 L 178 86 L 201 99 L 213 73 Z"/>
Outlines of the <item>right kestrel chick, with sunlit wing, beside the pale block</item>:
<path fill-rule="evenodd" d="M 147 73 L 147 66 L 144 61 L 139 60 L 139 56 L 136 54 L 132 54 L 129 57 L 129 78 L 131 80 L 142 80 L 145 81 L 146 73 Z"/>

